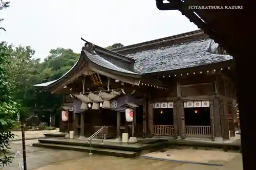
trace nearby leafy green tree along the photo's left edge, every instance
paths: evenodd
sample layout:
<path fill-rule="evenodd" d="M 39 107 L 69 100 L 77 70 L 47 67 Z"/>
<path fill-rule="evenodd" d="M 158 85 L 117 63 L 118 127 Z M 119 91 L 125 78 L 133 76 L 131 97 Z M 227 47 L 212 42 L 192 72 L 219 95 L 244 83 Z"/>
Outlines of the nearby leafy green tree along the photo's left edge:
<path fill-rule="evenodd" d="M 9 2 L 0 1 L 0 10 L 9 7 Z M 3 19 L 0 19 L 3 21 Z M 4 28 L 0 28 L 4 30 Z M 12 162 L 12 156 L 8 156 L 9 139 L 14 137 L 11 129 L 15 126 L 18 112 L 18 104 L 11 97 L 11 84 L 7 82 L 5 63 L 8 62 L 8 46 L 0 43 L 0 168 Z"/>

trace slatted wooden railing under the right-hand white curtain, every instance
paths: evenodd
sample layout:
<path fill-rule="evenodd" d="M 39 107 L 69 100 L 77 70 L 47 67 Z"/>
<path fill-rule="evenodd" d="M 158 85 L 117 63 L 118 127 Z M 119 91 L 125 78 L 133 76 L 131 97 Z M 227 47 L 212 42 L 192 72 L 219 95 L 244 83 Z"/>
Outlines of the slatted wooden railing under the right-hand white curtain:
<path fill-rule="evenodd" d="M 186 126 L 186 136 L 211 137 L 211 126 Z"/>

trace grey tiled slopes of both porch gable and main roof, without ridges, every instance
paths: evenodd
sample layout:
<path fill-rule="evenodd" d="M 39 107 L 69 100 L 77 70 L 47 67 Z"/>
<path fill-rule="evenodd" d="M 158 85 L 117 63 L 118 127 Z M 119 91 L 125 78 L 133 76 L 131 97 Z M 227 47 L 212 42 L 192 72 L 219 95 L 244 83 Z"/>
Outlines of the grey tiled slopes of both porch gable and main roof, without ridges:
<path fill-rule="evenodd" d="M 131 50 L 130 54 L 127 54 L 126 52 L 126 57 L 134 59 L 134 65 L 124 63 L 122 60 L 111 58 L 104 53 L 97 52 L 97 55 L 92 55 L 86 51 L 84 51 L 84 53 L 93 63 L 104 68 L 127 74 L 140 75 L 150 72 L 213 64 L 232 59 L 229 55 L 214 54 L 217 47 L 218 43 L 215 43 L 212 39 L 199 38 L 189 42 L 170 44 L 164 47 L 154 47 L 150 50 L 143 50 L 143 48 L 141 48 L 142 50 L 136 53 L 132 53 Z M 77 63 L 78 61 L 68 72 L 70 72 Z M 68 72 L 65 75 L 67 75 Z M 34 86 L 49 86 L 59 79 L 36 84 Z"/>

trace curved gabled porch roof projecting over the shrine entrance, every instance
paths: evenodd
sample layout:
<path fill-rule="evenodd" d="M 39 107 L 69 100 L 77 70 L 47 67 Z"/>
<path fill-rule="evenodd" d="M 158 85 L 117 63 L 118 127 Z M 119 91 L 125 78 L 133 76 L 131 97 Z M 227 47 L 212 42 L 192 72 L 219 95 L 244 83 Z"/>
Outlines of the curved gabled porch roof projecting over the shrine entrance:
<path fill-rule="evenodd" d="M 73 82 L 83 75 L 87 69 L 100 75 L 116 79 L 122 82 L 139 85 L 140 82 L 152 83 L 162 87 L 162 82 L 157 79 L 148 78 L 134 70 L 135 60 L 121 54 L 98 47 L 88 41 L 82 48 L 80 58 L 65 75 L 57 80 L 36 84 L 34 86 L 47 87 L 47 89 L 59 89 Z M 58 87 L 56 87 L 56 85 Z M 54 91 L 54 90 L 53 90 Z"/>

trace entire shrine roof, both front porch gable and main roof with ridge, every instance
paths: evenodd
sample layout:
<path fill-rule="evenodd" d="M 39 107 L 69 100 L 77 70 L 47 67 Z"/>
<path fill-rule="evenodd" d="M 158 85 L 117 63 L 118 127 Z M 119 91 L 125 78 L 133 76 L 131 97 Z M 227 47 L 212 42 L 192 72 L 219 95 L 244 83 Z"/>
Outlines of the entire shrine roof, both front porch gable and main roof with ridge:
<path fill-rule="evenodd" d="M 88 47 L 87 50 L 86 46 L 83 47 L 79 60 L 65 75 L 57 80 L 35 86 L 50 87 L 57 84 L 69 77 L 71 72 L 79 70 L 82 62 L 89 63 L 94 69 L 100 70 L 103 75 L 104 72 L 111 71 L 116 75 L 144 78 L 145 81 L 150 81 L 150 78 L 143 75 L 220 63 L 232 59 L 229 55 L 216 54 L 218 43 L 215 43 L 201 30 L 124 46 L 113 51 L 88 41 L 86 44 L 90 46 L 91 51 Z M 161 82 L 158 83 L 161 84 Z"/>

